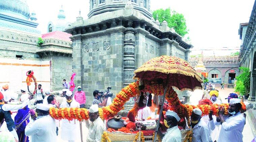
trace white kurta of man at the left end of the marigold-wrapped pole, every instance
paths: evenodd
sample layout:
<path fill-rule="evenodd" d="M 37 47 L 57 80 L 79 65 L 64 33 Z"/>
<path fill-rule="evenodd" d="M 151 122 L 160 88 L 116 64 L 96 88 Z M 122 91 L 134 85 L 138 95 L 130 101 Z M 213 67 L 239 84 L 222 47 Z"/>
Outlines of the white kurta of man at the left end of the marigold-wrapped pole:
<path fill-rule="evenodd" d="M 35 121 L 30 120 L 25 128 L 25 135 L 31 136 L 32 142 L 56 142 L 55 119 L 47 115 Z"/>

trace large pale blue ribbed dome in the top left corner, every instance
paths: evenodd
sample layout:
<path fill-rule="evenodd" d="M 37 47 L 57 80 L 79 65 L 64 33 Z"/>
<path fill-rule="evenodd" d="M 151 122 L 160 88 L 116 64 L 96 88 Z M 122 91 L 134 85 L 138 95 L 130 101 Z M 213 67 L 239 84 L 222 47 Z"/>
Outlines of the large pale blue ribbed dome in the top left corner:
<path fill-rule="evenodd" d="M 26 0 L 0 0 L 0 13 L 23 20 L 30 17 Z"/>

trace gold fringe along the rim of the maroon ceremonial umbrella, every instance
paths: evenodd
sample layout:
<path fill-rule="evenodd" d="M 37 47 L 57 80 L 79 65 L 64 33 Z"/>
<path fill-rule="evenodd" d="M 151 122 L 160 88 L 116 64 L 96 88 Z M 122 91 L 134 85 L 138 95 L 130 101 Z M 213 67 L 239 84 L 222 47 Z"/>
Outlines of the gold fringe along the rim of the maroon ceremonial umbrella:
<path fill-rule="evenodd" d="M 136 74 L 139 73 L 139 72 L 143 72 L 143 71 L 157 71 L 157 72 L 161 72 L 161 73 L 165 73 L 165 74 L 183 74 L 183 75 L 186 75 L 186 76 L 191 76 L 191 77 L 194 77 L 196 78 L 200 83 L 202 83 L 202 79 L 201 77 L 193 72 L 187 72 L 187 71 L 183 71 L 183 70 L 178 70 L 178 69 L 171 69 L 171 70 L 165 70 L 165 69 L 159 69 L 158 67 L 141 67 L 137 70 L 134 71 L 134 74 L 135 76 L 133 77 L 133 79 L 136 79 L 136 80 L 139 80 L 138 77 L 136 77 Z"/>

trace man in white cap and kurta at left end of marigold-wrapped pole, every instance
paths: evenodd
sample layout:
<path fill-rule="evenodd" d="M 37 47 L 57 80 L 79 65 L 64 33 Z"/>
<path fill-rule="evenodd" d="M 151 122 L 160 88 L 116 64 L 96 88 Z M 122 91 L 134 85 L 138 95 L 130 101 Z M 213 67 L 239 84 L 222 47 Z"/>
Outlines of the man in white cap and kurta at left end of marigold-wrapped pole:
<path fill-rule="evenodd" d="M 31 136 L 32 142 L 56 142 L 55 119 L 49 115 L 50 106 L 36 105 L 36 120 L 31 120 L 25 128 L 25 135 Z"/>

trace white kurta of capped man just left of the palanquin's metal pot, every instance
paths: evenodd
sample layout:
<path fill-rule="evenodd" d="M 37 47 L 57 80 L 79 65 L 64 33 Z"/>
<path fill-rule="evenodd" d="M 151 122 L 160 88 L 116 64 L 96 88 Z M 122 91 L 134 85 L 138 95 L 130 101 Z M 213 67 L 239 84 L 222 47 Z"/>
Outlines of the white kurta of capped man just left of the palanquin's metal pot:
<path fill-rule="evenodd" d="M 102 134 L 104 131 L 104 122 L 98 117 L 93 122 L 85 121 L 88 128 L 86 142 L 101 142 Z"/>

